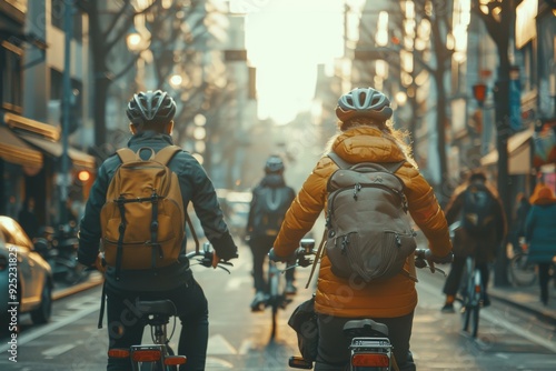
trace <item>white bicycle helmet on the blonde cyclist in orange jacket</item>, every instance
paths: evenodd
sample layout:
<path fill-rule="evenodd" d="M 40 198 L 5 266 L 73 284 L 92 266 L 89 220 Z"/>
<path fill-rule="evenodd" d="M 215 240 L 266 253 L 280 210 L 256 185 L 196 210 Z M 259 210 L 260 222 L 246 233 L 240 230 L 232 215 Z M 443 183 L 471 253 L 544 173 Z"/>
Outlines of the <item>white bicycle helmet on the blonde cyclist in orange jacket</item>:
<path fill-rule="evenodd" d="M 353 118 L 385 122 L 393 113 L 388 97 L 373 88 L 356 88 L 345 93 L 336 107 L 336 116 L 342 122 Z"/>

